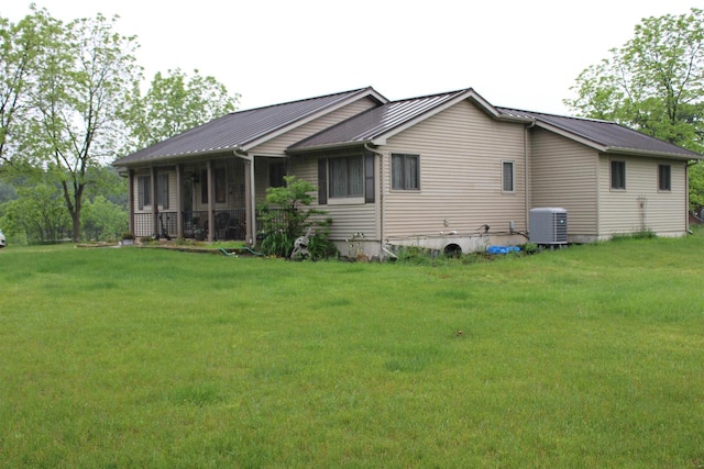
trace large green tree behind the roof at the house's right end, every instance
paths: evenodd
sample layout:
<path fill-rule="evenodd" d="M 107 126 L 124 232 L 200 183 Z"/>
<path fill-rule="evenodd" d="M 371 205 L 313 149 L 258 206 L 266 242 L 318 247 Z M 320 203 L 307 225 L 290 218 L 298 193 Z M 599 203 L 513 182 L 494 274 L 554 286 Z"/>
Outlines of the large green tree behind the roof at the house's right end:
<path fill-rule="evenodd" d="M 644 19 L 610 54 L 580 74 L 565 104 L 703 153 L 704 11 Z"/>

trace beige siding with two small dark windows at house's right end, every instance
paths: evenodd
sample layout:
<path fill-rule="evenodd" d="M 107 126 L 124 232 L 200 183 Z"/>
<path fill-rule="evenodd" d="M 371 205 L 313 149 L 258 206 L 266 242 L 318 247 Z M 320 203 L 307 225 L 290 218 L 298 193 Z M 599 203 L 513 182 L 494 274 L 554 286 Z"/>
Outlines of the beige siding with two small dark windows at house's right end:
<path fill-rule="evenodd" d="M 626 164 L 626 189 L 610 188 L 610 161 Z M 671 167 L 671 190 L 658 190 L 658 164 Z M 686 231 L 686 164 L 676 160 L 600 156 L 601 235 L 650 230 L 676 235 Z"/>

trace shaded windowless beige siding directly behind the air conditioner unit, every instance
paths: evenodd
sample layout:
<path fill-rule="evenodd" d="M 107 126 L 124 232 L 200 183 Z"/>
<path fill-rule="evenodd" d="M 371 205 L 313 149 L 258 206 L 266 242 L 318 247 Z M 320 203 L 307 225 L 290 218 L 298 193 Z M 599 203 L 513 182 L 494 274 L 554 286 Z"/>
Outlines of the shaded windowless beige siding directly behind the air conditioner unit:
<path fill-rule="evenodd" d="M 568 211 L 570 236 L 596 236 L 598 153 L 542 129 L 531 131 L 530 208 Z"/>

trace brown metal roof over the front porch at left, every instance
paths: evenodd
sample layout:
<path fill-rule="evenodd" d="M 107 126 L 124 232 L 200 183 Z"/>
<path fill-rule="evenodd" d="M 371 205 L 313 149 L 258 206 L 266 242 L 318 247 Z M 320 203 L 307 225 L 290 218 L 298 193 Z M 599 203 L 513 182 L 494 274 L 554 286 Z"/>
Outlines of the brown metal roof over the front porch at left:
<path fill-rule="evenodd" d="M 233 112 L 215 119 L 183 134 L 167 138 L 136 153 L 119 158 L 114 166 L 129 166 L 154 159 L 169 159 L 234 150 L 265 139 L 268 135 L 302 122 L 350 99 L 371 94 L 385 99 L 371 87 L 327 94 L 300 101 Z"/>

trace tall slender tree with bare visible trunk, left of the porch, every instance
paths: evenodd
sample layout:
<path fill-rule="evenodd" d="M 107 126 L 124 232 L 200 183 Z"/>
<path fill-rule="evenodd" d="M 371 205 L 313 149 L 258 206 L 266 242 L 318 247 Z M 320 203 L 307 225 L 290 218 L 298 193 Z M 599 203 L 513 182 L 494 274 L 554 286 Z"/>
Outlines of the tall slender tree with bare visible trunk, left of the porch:
<path fill-rule="evenodd" d="M 31 152 L 15 155 L 54 176 L 72 217 L 74 241 L 80 239 L 89 170 L 111 159 L 124 141 L 121 108 L 141 76 L 134 37 L 116 33 L 116 21 L 101 14 L 75 20 L 46 40 L 23 136 Z"/>

